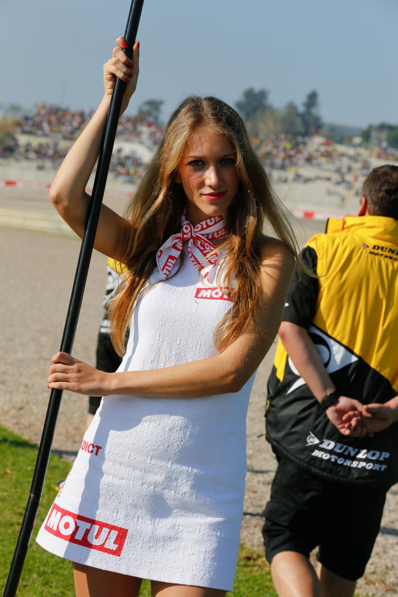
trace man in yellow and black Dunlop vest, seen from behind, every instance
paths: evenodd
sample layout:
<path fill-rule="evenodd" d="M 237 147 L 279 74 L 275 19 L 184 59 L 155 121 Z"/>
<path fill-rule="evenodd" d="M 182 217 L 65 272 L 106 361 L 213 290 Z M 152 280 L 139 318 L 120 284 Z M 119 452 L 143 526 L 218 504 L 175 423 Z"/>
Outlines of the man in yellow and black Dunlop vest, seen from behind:
<path fill-rule="evenodd" d="M 280 597 L 351 597 L 398 481 L 398 167 L 302 255 L 317 277 L 294 273 L 268 383 L 264 544 Z"/>

